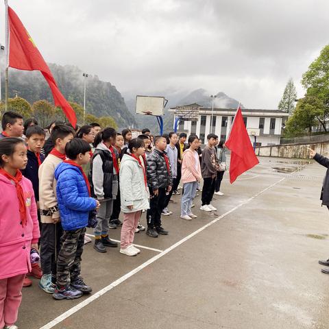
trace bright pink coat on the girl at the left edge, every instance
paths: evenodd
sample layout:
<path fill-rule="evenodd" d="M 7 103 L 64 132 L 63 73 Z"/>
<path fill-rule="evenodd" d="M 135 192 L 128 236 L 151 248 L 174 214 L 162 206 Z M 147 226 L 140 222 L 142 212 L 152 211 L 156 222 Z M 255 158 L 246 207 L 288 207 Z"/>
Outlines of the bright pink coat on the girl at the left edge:
<path fill-rule="evenodd" d="M 21 225 L 19 199 L 14 182 L 0 174 L 0 279 L 31 271 L 31 243 L 40 237 L 32 182 L 21 180 L 25 195 L 27 223 Z"/>

